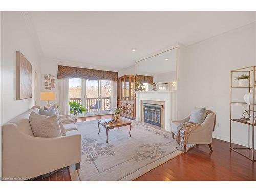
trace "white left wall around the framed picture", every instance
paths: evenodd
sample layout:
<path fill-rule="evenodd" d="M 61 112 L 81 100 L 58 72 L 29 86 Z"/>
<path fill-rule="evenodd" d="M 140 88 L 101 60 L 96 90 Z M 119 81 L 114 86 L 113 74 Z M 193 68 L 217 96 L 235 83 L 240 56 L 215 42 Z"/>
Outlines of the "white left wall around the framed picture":
<path fill-rule="evenodd" d="M 35 104 L 35 71 L 40 71 L 40 58 L 26 27 L 22 12 L 1 13 L 1 125 Z M 33 96 L 16 100 L 16 51 L 29 60 L 33 73 Z"/>

